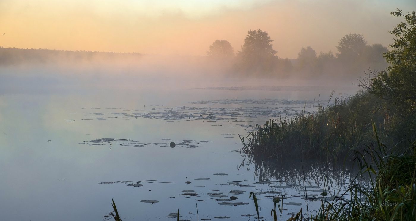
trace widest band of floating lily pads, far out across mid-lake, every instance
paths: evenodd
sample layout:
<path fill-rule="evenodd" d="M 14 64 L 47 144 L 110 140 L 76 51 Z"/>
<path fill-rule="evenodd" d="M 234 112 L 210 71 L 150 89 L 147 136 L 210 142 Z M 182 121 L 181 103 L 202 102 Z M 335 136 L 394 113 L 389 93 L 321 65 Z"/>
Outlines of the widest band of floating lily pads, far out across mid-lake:
<path fill-rule="evenodd" d="M 313 101 L 307 100 L 308 104 Z M 302 112 L 305 107 L 305 100 L 287 100 L 287 99 L 220 99 L 220 100 L 202 100 L 190 103 L 192 107 L 160 107 L 147 106 L 144 109 L 125 110 L 117 109 L 117 112 L 111 112 L 108 109 L 94 108 L 100 112 L 84 112 L 81 120 L 120 120 L 120 119 L 137 119 L 153 118 L 163 119 L 168 121 L 173 120 L 207 120 L 213 122 L 246 122 L 250 117 L 270 117 L 276 118 L 279 116 L 294 116 L 296 112 Z M 212 105 L 229 105 L 229 104 L 244 104 L 243 107 L 206 107 L 193 106 L 195 104 L 212 104 Z M 253 107 L 247 107 L 248 105 Z M 322 101 L 322 104 L 327 102 Z M 263 105 L 258 107 L 259 105 Z M 257 106 L 257 107 L 256 107 Z M 73 113 L 78 114 L 78 113 Z M 74 119 L 67 120 L 68 122 L 75 121 Z M 220 126 L 220 125 L 216 125 Z M 221 125 L 223 126 L 223 125 Z M 225 125 L 224 125 L 225 126 Z M 246 125 L 246 127 L 248 127 Z"/>

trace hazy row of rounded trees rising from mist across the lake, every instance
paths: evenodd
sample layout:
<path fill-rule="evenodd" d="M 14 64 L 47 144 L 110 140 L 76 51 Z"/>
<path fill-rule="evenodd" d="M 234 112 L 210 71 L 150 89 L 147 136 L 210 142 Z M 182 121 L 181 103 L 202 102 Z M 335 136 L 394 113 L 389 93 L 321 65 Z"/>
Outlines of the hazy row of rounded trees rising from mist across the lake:
<path fill-rule="evenodd" d="M 381 44 L 368 45 L 359 34 L 348 34 L 339 40 L 337 50 L 320 52 L 312 47 L 302 47 L 297 59 L 279 58 L 273 50 L 267 32 L 249 30 L 244 45 L 236 54 L 227 40 L 215 40 L 209 47 L 208 56 L 213 60 L 232 63 L 232 72 L 239 76 L 302 77 L 357 76 L 370 69 L 384 70 L 388 64 L 383 53 L 388 52 Z"/>

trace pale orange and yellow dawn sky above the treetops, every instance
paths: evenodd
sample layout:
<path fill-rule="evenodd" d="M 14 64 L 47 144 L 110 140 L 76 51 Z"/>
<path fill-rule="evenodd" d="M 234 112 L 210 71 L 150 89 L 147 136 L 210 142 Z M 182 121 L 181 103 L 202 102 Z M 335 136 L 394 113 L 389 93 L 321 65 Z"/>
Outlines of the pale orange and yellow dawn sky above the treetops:
<path fill-rule="evenodd" d="M 302 47 L 337 52 L 342 36 L 371 45 L 416 10 L 415 0 L 0 0 L 0 46 L 206 55 L 215 40 L 240 50 L 248 30 L 269 34 L 277 56 Z"/>

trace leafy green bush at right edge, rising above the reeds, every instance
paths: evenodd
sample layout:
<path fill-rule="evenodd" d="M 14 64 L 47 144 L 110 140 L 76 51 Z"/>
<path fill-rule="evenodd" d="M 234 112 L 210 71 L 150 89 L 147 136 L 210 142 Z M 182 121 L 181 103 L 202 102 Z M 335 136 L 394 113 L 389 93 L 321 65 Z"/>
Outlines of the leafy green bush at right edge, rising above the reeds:
<path fill-rule="evenodd" d="M 396 17 L 402 16 L 397 9 L 391 12 Z M 371 79 L 370 92 L 385 101 L 397 105 L 408 113 L 416 112 L 416 14 L 404 15 L 406 22 L 400 22 L 389 33 L 397 38 L 392 51 L 384 53 L 391 65 Z"/>

